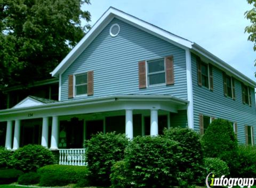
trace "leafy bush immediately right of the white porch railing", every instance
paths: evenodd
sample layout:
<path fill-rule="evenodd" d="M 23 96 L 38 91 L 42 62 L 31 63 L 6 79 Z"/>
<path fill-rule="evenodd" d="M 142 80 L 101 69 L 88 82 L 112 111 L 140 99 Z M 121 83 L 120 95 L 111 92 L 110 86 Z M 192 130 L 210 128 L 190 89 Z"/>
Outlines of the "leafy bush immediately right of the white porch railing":
<path fill-rule="evenodd" d="M 85 143 L 89 176 L 93 185 L 110 185 L 112 165 L 124 159 L 124 150 L 128 145 L 126 135 L 99 133 Z"/>

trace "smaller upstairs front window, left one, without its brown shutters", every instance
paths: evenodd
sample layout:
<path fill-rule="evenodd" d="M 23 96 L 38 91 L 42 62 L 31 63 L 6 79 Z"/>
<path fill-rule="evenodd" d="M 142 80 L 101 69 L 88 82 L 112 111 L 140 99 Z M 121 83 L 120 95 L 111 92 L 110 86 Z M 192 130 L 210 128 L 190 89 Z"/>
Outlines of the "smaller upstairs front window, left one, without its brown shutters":
<path fill-rule="evenodd" d="M 87 74 L 75 75 L 75 96 L 87 94 Z"/>

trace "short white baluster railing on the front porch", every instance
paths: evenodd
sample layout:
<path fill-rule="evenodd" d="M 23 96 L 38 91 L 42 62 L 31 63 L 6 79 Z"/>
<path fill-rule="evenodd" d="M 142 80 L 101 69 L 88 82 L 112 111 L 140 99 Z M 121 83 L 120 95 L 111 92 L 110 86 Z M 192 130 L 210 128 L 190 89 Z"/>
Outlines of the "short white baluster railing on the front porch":
<path fill-rule="evenodd" d="M 85 149 L 59 149 L 59 164 L 85 166 Z"/>

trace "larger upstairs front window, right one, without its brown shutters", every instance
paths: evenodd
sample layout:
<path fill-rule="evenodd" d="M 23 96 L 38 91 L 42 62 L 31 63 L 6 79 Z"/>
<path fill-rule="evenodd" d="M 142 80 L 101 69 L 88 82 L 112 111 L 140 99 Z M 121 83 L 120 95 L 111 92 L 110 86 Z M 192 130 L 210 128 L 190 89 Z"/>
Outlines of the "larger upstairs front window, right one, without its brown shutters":
<path fill-rule="evenodd" d="M 165 84 L 164 58 L 147 61 L 147 84 Z"/>

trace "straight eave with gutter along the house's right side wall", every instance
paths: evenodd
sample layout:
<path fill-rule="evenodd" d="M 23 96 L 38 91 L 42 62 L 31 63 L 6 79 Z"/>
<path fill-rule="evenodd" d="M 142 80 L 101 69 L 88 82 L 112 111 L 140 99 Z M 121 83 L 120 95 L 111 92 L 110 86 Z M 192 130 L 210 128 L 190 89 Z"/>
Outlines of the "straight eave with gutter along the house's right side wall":
<path fill-rule="evenodd" d="M 197 45 L 196 43 L 194 43 L 192 45 L 192 49 L 195 52 L 197 52 L 197 53 L 203 55 L 204 57 L 210 59 L 211 61 L 213 61 L 216 65 L 218 65 L 219 68 L 223 69 L 224 71 L 228 71 L 231 74 L 235 75 L 240 81 L 248 83 L 252 87 L 256 87 L 256 82 L 255 81 L 248 78 L 247 76 L 245 76 L 244 74 L 239 72 L 237 69 L 235 69 L 231 65 L 227 64 L 225 61 L 222 61 L 220 58 L 216 57 L 214 54 L 210 53 L 206 49 L 202 48 L 200 45 Z"/>

